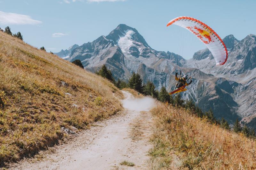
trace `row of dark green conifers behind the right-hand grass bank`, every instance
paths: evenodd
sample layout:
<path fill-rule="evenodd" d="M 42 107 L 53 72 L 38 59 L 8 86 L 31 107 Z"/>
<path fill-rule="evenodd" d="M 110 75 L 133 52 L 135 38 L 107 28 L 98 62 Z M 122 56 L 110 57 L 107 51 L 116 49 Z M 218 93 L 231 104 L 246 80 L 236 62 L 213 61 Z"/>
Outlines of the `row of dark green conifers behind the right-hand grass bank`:
<path fill-rule="evenodd" d="M 146 84 L 143 84 L 143 81 L 138 73 L 133 72 L 128 83 L 126 83 L 125 81 L 121 81 L 120 79 L 115 81 L 111 71 L 108 70 L 106 65 L 103 65 L 100 68 L 100 70 L 96 72 L 96 74 L 104 78 L 107 78 L 109 81 L 114 83 L 116 87 L 119 89 L 134 89 L 145 96 L 152 96 L 160 102 L 167 103 L 176 107 L 182 107 L 186 110 L 189 110 L 192 114 L 196 115 L 197 117 L 205 118 L 209 123 L 217 124 L 225 130 L 234 131 L 236 133 L 243 133 L 248 138 L 254 139 L 256 137 L 254 129 L 247 127 L 246 125 L 242 127 L 238 119 L 236 119 L 234 127 L 231 129 L 228 122 L 223 117 L 220 120 L 215 118 L 212 109 L 210 109 L 207 112 L 203 112 L 198 106 L 196 106 L 192 98 L 190 98 L 189 100 L 183 100 L 180 93 L 176 94 L 173 97 L 172 95 L 169 95 L 165 87 L 162 87 L 160 91 L 158 91 L 156 90 L 154 83 L 151 81 L 148 81 Z"/>

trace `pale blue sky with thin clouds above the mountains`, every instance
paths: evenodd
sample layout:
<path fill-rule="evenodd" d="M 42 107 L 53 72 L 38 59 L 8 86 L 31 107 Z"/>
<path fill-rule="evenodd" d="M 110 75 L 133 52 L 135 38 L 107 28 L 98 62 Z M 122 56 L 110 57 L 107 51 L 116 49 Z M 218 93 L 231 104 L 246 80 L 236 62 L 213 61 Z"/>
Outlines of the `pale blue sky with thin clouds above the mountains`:
<path fill-rule="evenodd" d="M 256 34 L 255 7 L 254 0 L 0 0 L 0 27 L 10 26 L 32 46 L 58 52 L 126 24 L 136 28 L 155 50 L 189 59 L 205 46 L 177 25 L 166 27 L 171 19 L 193 17 L 221 38 L 233 34 L 241 40 Z"/>

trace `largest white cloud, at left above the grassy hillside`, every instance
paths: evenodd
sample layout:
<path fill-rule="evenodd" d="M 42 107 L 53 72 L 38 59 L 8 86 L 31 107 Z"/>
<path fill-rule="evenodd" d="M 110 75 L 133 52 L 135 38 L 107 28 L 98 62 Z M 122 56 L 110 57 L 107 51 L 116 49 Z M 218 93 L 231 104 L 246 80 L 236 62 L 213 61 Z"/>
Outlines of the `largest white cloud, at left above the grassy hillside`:
<path fill-rule="evenodd" d="M 42 23 L 42 21 L 34 20 L 28 15 L 7 13 L 7 12 L 0 11 L 0 24 L 2 24 L 2 25 L 8 25 L 8 24 L 36 25 L 36 24 L 41 24 L 41 23 Z"/>

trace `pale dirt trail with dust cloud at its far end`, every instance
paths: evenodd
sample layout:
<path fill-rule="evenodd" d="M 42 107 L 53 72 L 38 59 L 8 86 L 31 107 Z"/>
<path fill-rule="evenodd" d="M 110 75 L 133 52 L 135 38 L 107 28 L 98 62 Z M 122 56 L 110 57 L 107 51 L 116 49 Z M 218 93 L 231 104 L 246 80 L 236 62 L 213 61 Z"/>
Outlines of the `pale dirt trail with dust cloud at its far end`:
<path fill-rule="evenodd" d="M 53 153 L 40 152 L 42 160 L 24 159 L 11 169 L 148 169 L 148 150 L 152 147 L 148 110 L 154 100 L 134 99 L 129 92 L 123 93 L 124 113 L 95 123 L 69 144 L 55 146 Z M 124 160 L 135 165 L 120 165 Z"/>

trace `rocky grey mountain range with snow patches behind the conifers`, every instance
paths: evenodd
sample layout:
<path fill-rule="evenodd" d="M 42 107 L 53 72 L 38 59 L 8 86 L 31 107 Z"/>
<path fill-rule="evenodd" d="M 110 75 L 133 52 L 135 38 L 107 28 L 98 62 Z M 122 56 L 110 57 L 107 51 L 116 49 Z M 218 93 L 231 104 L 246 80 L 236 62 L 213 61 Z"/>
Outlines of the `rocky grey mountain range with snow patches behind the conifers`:
<path fill-rule="evenodd" d="M 68 60 L 80 59 L 85 69 L 92 72 L 106 64 L 115 79 L 124 81 L 129 79 L 132 72 L 138 72 L 144 83 L 152 81 L 156 89 L 160 90 L 165 86 L 169 91 L 176 84 L 175 72 L 182 69 L 184 74 L 194 77 L 193 83 L 182 93 L 182 97 L 192 98 L 204 111 L 212 108 L 216 115 L 216 112 L 221 111 L 219 108 L 226 108 L 225 115 L 219 114 L 217 117 L 224 117 L 232 123 L 236 118 L 243 118 L 254 111 L 250 102 L 241 103 L 238 96 L 250 93 L 245 84 L 249 79 L 254 81 L 254 72 L 251 70 L 256 64 L 255 35 L 250 34 L 240 41 L 233 35 L 228 35 L 223 41 L 227 44 L 230 57 L 224 66 L 216 67 L 207 48 L 196 52 L 192 59 L 185 60 L 178 54 L 152 49 L 136 29 L 120 24 L 106 37 L 100 36 L 92 41 L 95 49 L 79 46 L 73 50 Z M 236 76 L 238 73 L 241 76 Z M 241 79 L 244 74 L 246 76 Z M 250 86 L 249 89 L 254 87 Z M 250 111 L 244 106 L 250 107 Z"/>

